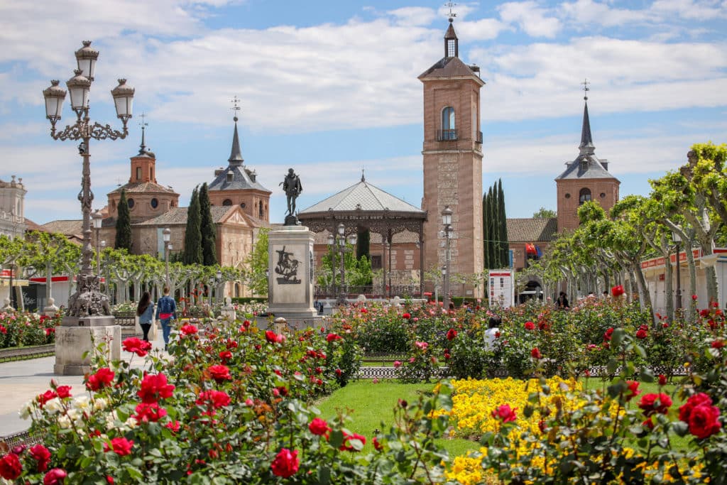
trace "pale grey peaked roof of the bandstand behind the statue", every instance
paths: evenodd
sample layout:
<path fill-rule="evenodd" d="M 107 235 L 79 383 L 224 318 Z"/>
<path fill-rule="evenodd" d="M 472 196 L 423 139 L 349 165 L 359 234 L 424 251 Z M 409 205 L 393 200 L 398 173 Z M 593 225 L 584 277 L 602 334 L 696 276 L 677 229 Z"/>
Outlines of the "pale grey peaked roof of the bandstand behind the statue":
<path fill-rule="evenodd" d="M 355 211 L 358 209 L 364 212 L 380 212 L 388 209 L 392 212 L 411 212 L 412 215 L 422 215 L 422 217 L 426 214 L 425 211 L 414 207 L 409 202 L 398 199 L 398 197 L 371 185 L 366 182 L 364 177 L 361 177 L 361 182 L 343 189 L 328 199 L 308 207 L 308 209 L 303 209 L 299 214 L 306 215 L 313 212 L 328 212 L 329 210 Z"/>

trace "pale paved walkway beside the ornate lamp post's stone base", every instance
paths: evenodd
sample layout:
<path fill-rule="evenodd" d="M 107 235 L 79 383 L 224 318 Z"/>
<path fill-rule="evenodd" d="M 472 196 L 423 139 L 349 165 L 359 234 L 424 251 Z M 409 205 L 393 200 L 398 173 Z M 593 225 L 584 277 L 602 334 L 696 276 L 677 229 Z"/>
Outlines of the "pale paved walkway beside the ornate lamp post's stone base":
<path fill-rule="evenodd" d="M 161 329 L 153 342 L 153 350 L 164 349 Z M 163 350 L 162 350 L 163 351 Z M 129 360 L 132 354 L 121 350 L 121 358 Z M 141 366 L 144 358 L 134 356 L 133 366 Z M 31 422 L 20 419 L 20 408 L 26 402 L 50 388 L 50 380 L 59 385 L 71 385 L 73 396 L 85 391 L 82 375 L 56 375 L 53 373 L 55 357 L 32 358 L 27 361 L 12 361 L 0 364 L 0 436 L 27 430 Z"/>

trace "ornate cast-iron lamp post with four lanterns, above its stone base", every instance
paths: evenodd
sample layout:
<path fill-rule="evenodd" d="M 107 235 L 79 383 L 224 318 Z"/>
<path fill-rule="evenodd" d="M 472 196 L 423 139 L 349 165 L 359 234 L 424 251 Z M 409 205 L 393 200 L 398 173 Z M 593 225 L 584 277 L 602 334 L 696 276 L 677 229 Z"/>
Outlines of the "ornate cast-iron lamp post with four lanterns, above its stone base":
<path fill-rule="evenodd" d="M 79 155 L 83 159 L 81 177 L 81 212 L 83 214 L 83 249 L 81 251 L 81 272 L 77 276 L 76 293 L 68 300 L 68 316 L 78 318 L 94 315 L 108 315 L 107 298 L 100 293 L 99 278 L 94 278 L 92 270 L 93 252 L 91 249 L 91 167 L 89 142 L 94 140 L 124 139 L 129 134 L 126 123 L 132 117 L 134 88 L 126 85 L 126 79 L 119 79 L 119 86 L 111 91 L 116 116 L 121 119 L 123 131 L 112 129 L 108 124 L 91 123 L 89 118 L 89 91 L 94 81 L 94 71 L 98 51 L 92 49 L 91 41 L 84 41 L 84 47 L 76 51 L 78 68 L 74 76 L 65 85 L 71 94 L 71 109 L 76 113 L 76 122 L 68 125 L 60 132 L 56 131 L 56 123 L 61 118 L 65 89 L 59 87 L 59 81 L 51 81 L 50 87 L 44 89 L 46 118 L 51 124 L 50 135 L 54 140 L 81 140 Z"/>

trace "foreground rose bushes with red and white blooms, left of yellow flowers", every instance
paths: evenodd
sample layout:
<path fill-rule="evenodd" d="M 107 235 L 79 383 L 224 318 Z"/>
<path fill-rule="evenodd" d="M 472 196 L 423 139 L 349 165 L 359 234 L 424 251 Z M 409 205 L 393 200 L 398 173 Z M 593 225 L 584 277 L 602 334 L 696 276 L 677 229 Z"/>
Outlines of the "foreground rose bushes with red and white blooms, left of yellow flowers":
<path fill-rule="evenodd" d="M 447 427 L 449 388 L 400 402 L 376 436 L 327 422 L 311 403 L 358 368 L 353 329 L 263 332 L 249 321 L 214 332 L 184 324 L 172 360 L 124 340 L 142 369 L 95 357 L 85 389 L 55 385 L 23 407 L 42 444 L 0 457 L 0 476 L 23 483 L 409 483 L 443 481 L 433 443 Z M 134 356 L 134 358 L 137 358 Z M 353 367 L 352 367 L 353 364 Z M 359 452 L 366 441 L 374 452 Z"/>

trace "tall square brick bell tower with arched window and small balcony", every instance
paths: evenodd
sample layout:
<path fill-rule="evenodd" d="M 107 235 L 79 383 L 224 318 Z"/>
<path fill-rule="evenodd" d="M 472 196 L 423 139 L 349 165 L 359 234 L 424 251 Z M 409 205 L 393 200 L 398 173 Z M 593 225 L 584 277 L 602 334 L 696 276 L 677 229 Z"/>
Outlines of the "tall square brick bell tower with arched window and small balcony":
<path fill-rule="evenodd" d="M 451 274 L 471 275 L 483 270 L 482 242 L 482 132 L 480 69 L 459 59 L 453 16 L 444 35 L 444 57 L 427 69 L 424 84 L 424 197 L 428 211 L 424 226 L 425 270 L 445 262 L 441 213 L 453 211 L 450 243 Z M 481 287 L 451 286 L 454 295 L 481 297 Z"/>

